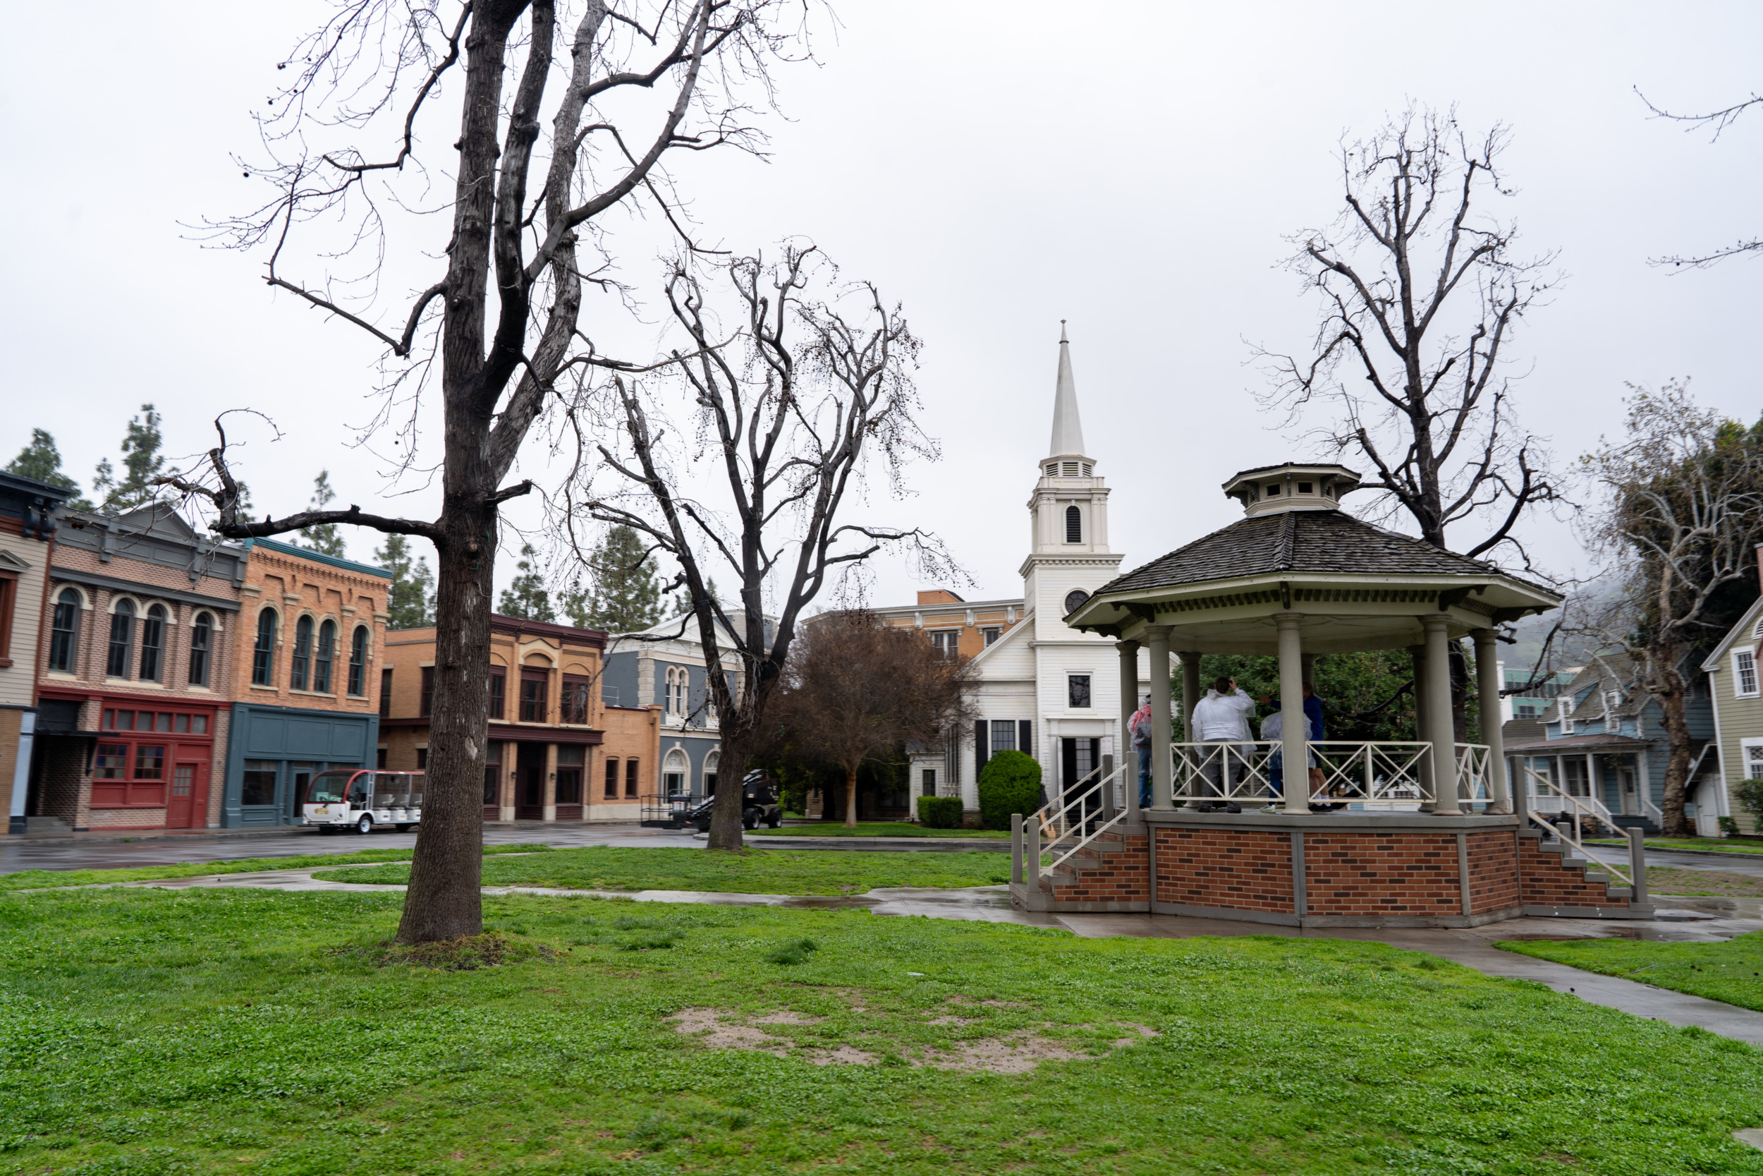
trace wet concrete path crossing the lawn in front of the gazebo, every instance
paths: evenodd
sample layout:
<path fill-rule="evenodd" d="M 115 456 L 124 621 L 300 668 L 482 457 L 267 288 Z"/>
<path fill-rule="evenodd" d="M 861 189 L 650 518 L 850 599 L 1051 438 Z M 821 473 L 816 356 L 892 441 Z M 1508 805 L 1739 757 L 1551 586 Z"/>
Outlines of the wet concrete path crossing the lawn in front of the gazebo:
<path fill-rule="evenodd" d="M 323 867 L 319 867 L 323 869 Z M 130 887 L 264 887 L 275 890 L 402 890 L 402 885 L 361 887 L 344 882 L 314 878 L 314 869 L 277 869 L 254 875 L 219 875 L 208 878 L 176 878 L 164 882 L 134 882 Z M 712 903 L 721 906 L 783 906 L 839 910 L 859 908 L 873 915 L 924 915 L 929 919 L 968 919 L 982 922 L 1014 922 L 1038 927 L 1063 927 L 1082 938 L 1135 936 L 1135 938 L 1194 938 L 1273 934 L 1283 938 L 1361 940 L 1389 943 L 1416 952 L 1430 952 L 1442 959 L 1476 968 L 1495 977 L 1536 980 L 1557 993 L 1567 993 L 1594 1005 L 1618 1009 L 1636 1017 L 1668 1024 L 1700 1024 L 1710 1033 L 1733 1037 L 1752 1046 L 1763 1046 L 1763 1012 L 1738 1009 L 1701 996 L 1687 996 L 1671 989 L 1654 987 L 1640 980 L 1604 977 L 1581 971 L 1493 947 L 1500 940 L 1525 938 L 1645 938 L 1666 942 L 1710 943 L 1737 934 L 1763 931 L 1763 904 L 1758 899 L 1661 899 L 1678 908 L 1661 912 L 1668 922 L 1613 922 L 1601 919 L 1511 919 L 1469 929 L 1398 929 L 1398 927 L 1278 927 L 1222 919 L 1190 919 L 1178 915 L 1054 915 L 1030 913 L 1010 908 L 1007 887 L 971 887 L 961 890 L 933 889 L 876 889 L 852 896 L 790 896 L 790 894 L 719 894 L 703 890 L 559 890 L 545 887 L 485 887 L 485 894 L 532 894 L 552 897 L 621 897 L 636 903 Z"/>

